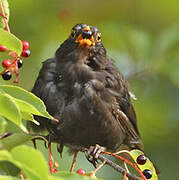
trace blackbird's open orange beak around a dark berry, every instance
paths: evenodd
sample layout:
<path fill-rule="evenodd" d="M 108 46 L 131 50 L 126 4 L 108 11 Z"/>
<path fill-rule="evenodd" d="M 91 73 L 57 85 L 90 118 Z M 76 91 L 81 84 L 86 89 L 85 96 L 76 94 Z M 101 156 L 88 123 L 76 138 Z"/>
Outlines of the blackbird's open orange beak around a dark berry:
<path fill-rule="evenodd" d="M 90 27 L 87 26 L 84 28 L 84 32 L 89 32 L 90 31 Z M 86 37 L 83 37 L 82 34 L 80 34 L 77 39 L 75 40 L 75 42 L 79 43 L 79 46 L 80 47 L 90 47 L 92 45 L 95 45 L 95 40 L 94 40 L 94 37 L 91 36 L 90 38 L 86 38 Z"/>

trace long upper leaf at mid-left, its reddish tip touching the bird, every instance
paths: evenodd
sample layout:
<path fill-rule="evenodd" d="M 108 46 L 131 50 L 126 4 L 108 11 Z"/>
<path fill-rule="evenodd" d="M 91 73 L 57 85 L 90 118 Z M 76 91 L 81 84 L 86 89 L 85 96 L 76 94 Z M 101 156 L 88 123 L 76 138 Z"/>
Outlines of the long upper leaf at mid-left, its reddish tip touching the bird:
<path fill-rule="evenodd" d="M 28 104 L 30 104 L 31 108 L 33 106 L 35 109 L 37 109 L 37 111 L 40 112 L 41 116 L 44 116 L 49 119 L 53 119 L 53 117 L 49 115 L 49 113 L 46 111 L 46 107 L 43 101 L 37 96 L 35 96 L 33 93 L 28 92 L 25 89 L 22 89 L 18 86 L 12 86 L 12 85 L 0 85 L 0 89 L 16 99 L 25 101 L 26 107 L 28 106 Z M 33 108 L 33 111 L 35 111 L 34 108 Z"/>

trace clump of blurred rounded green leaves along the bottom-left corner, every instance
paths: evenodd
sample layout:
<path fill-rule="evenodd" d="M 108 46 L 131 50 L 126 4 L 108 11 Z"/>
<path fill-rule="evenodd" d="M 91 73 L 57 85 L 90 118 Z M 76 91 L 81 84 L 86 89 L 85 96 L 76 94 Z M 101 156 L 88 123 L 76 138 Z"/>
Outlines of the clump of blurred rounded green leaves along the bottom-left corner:
<path fill-rule="evenodd" d="M 1 150 L 0 167 L 0 170 L 6 174 L 0 176 L 3 180 L 10 180 L 14 176 L 16 179 L 21 179 L 19 176 L 21 171 L 31 180 L 91 179 L 87 176 L 83 177 L 76 173 L 71 174 L 67 172 L 59 172 L 58 178 L 50 175 L 48 173 L 47 162 L 42 154 L 39 151 L 24 145 L 15 147 L 11 151 Z"/>

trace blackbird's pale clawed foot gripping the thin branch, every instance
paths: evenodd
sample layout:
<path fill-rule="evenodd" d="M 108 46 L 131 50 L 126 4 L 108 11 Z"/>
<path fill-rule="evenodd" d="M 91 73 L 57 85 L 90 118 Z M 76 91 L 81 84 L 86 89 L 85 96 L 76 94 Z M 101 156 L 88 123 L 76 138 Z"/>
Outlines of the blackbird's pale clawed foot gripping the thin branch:
<path fill-rule="evenodd" d="M 85 151 L 85 155 L 87 160 L 93 164 L 93 166 L 96 168 L 98 164 L 98 156 L 101 152 L 104 152 L 105 148 L 102 146 L 99 146 L 96 144 L 95 146 L 90 146 L 89 149 Z"/>

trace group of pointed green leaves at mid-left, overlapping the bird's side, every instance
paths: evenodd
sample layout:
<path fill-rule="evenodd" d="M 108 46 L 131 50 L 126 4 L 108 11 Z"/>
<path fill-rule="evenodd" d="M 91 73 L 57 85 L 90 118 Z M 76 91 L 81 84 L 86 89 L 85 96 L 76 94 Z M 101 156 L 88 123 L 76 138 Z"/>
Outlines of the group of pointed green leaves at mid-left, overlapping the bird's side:
<path fill-rule="evenodd" d="M 22 119 L 30 120 L 38 124 L 32 114 L 53 119 L 39 98 L 20 87 L 0 85 L 0 101 L 1 119 L 7 118 L 25 132 L 27 132 L 27 130 L 22 123 Z"/>

